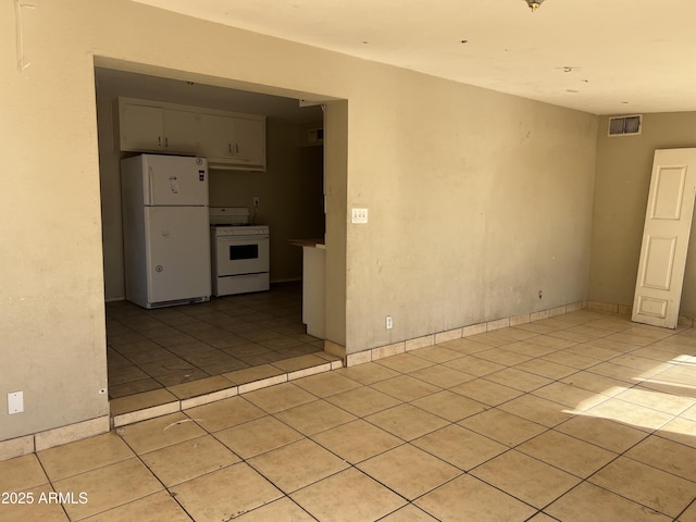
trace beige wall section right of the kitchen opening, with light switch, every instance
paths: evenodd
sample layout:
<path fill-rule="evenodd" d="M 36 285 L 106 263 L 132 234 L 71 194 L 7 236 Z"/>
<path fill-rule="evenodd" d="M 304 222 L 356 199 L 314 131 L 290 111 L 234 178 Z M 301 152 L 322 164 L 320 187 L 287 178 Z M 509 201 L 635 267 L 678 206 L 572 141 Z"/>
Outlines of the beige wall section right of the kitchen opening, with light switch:
<path fill-rule="evenodd" d="M 596 119 L 376 65 L 369 77 L 350 104 L 348 202 L 371 225 L 348 227 L 349 351 L 583 299 Z"/>

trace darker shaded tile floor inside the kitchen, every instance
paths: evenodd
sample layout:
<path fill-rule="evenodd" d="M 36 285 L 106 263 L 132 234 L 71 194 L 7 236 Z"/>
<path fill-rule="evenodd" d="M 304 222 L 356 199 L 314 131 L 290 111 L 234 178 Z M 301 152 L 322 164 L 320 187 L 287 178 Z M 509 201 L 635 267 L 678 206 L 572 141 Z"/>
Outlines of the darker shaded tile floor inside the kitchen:
<path fill-rule="evenodd" d="M 154 310 L 108 302 L 109 397 L 321 352 L 323 340 L 306 334 L 301 299 L 298 282 Z"/>

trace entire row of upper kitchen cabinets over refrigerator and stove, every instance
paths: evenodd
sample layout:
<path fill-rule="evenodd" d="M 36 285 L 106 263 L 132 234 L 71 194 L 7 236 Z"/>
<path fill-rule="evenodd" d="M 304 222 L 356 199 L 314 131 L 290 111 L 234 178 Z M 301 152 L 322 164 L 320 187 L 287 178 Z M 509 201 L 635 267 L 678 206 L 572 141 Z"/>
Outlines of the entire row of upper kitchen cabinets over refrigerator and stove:
<path fill-rule="evenodd" d="M 191 154 L 212 169 L 265 171 L 265 116 L 119 98 L 122 151 Z"/>

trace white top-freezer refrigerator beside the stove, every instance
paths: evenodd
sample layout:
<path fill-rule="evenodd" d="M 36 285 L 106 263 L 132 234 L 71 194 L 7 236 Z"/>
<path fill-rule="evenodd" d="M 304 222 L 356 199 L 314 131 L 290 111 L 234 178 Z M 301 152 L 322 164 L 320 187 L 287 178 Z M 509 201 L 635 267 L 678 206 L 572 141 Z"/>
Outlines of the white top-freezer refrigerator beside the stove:
<path fill-rule="evenodd" d="M 125 294 L 144 308 L 210 300 L 208 162 L 121 160 Z"/>

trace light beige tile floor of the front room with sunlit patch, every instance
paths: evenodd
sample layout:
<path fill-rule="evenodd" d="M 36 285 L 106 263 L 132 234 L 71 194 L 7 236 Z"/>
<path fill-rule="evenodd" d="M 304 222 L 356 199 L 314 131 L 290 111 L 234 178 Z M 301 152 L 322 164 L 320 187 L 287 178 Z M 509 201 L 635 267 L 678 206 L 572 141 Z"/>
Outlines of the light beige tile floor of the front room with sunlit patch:
<path fill-rule="evenodd" d="M 0 520 L 694 522 L 695 355 L 586 310 L 451 340 L 0 462 Z"/>

